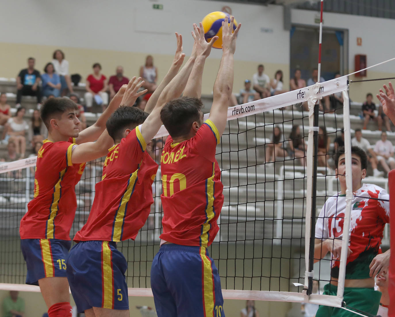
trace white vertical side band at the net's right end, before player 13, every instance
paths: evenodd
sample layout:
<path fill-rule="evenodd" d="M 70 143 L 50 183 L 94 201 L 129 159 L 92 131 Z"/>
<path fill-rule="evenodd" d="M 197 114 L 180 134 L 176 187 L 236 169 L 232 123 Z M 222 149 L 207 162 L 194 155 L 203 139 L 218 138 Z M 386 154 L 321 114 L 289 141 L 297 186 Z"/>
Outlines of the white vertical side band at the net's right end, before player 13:
<path fill-rule="evenodd" d="M 350 127 L 350 98 L 348 92 L 343 91 L 343 126 L 344 126 L 344 157 L 346 163 L 346 210 L 344 212 L 342 251 L 340 253 L 339 279 L 337 296 L 343 297 L 344 280 L 346 278 L 346 263 L 348 251 L 348 239 L 350 236 L 350 215 L 352 204 L 352 169 L 351 169 L 351 127 Z M 346 228 L 347 230 L 344 230 Z"/>

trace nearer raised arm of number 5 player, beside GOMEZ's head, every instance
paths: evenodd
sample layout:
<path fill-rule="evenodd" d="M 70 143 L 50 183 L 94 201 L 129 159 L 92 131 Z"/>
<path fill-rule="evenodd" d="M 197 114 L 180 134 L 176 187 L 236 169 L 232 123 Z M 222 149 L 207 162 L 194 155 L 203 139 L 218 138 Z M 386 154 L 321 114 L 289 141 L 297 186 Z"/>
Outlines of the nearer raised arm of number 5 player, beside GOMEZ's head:
<path fill-rule="evenodd" d="M 182 40 L 182 38 L 180 38 L 180 40 Z M 179 52 L 179 58 L 177 59 L 180 60 L 181 64 L 184 56 L 185 55 L 183 53 Z M 170 83 L 162 91 L 162 94 L 160 94 L 155 108 L 152 110 L 148 118 L 144 121 L 143 126 L 141 127 L 141 134 L 143 135 L 143 138 L 145 140 L 152 139 L 162 125 L 162 121 L 160 120 L 160 111 L 162 110 L 162 108 L 170 100 L 178 98 L 181 95 L 182 91 L 185 89 L 186 82 L 188 81 L 188 77 L 191 74 L 195 59 L 196 44 L 194 44 L 192 54 L 190 58 L 188 58 L 188 60 L 186 61 L 184 67 L 181 68 L 180 72 L 170 81 Z"/>

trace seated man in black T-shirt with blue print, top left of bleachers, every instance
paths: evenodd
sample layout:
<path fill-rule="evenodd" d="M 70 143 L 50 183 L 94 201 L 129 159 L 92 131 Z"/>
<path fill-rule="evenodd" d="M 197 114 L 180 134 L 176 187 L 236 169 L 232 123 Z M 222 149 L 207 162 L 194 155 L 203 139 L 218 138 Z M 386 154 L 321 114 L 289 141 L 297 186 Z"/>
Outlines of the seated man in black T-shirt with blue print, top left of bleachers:
<path fill-rule="evenodd" d="M 21 70 L 17 76 L 17 104 L 16 108 L 21 106 L 22 96 L 36 96 L 37 106 L 41 104 L 41 91 L 38 84 L 40 83 L 40 72 L 34 69 L 36 60 L 29 57 L 27 60 L 28 68 Z"/>

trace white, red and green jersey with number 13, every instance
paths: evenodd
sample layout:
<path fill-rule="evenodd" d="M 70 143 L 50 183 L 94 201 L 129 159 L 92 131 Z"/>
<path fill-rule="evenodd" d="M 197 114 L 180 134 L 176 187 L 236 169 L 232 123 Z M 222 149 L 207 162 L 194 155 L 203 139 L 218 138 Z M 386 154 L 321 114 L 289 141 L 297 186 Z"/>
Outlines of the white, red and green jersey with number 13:
<path fill-rule="evenodd" d="M 330 197 L 316 223 L 317 239 L 341 239 L 343 236 L 346 197 Z M 389 194 L 385 189 L 363 184 L 352 200 L 350 240 L 352 251 L 347 258 L 346 279 L 369 278 L 369 264 L 381 253 L 384 226 L 389 222 Z M 331 276 L 339 277 L 340 260 L 332 259 Z"/>

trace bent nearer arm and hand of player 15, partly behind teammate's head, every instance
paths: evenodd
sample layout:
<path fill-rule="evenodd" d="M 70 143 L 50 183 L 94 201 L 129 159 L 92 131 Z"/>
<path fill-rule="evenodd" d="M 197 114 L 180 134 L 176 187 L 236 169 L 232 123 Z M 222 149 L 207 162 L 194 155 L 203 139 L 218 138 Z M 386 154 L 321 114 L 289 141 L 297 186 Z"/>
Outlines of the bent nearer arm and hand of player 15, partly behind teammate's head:
<path fill-rule="evenodd" d="M 121 89 L 119 89 L 113 98 L 117 104 L 116 108 L 118 108 L 120 104 L 133 106 L 137 97 L 146 92 L 138 92 L 141 84 L 144 83 L 143 81 L 140 81 L 140 79 L 141 78 L 136 79 L 136 77 L 133 77 L 128 85 L 123 85 Z M 77 145 L 71 154 L 71 162 L 76 164 L 98 159 L 99 157 L 106 155 L 108 153 L 108 149 L 113 145 L 113 138 L 109 136 L 107 130 L 104 130 L 96 142 L 85 142 Z"/>

